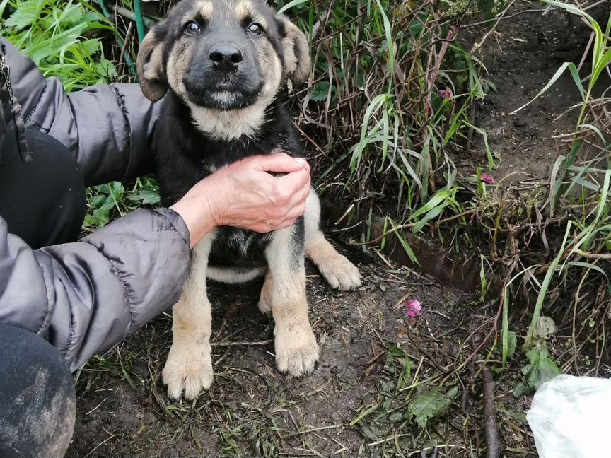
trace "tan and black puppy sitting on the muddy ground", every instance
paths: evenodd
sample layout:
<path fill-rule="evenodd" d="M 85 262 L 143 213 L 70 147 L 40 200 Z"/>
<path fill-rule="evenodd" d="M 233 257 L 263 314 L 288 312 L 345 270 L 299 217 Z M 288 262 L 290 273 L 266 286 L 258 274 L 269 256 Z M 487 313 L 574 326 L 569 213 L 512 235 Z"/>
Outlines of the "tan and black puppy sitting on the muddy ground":
<path fill-rule="evenodd" d="M 247 155 L 302 156 L 298 132 L 277 100 L 290 78 L 310 72 L 308 41 L 262 0 L 182 0 L 142 42 L 141 88 L 164 98 L 153 140 L 156 177 L 169 206 L 199 180 Z M 194 247 L 190 274 L 173 308 L 173 344 L 163 369 L 170 397 L 192 399 L 212 383 L 211 308 L 206 277 L 227 283 L 265 276 L 259 307 L 272 312 L 277 367 L 300 376 L 319 350 L 306 301 L 307 255 L 334 288 L 361 284 L 358 269 L 319 228 L 312 190 L 306 214 L 268 234 L 216 228 Z"/>

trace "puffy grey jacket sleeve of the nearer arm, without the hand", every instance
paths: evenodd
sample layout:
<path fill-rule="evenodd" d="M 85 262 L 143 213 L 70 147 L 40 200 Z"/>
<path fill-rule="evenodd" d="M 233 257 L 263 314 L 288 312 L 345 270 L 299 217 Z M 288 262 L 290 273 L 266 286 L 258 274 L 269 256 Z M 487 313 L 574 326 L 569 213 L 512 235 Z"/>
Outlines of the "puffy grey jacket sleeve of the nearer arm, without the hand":
<path fill-rule="evenodd" d="M 188 259 L 188 230 L 170 209 L 37 250 L 0 218 L 0 322 L 49 340 L 76 370 L 175 303 Z"/>

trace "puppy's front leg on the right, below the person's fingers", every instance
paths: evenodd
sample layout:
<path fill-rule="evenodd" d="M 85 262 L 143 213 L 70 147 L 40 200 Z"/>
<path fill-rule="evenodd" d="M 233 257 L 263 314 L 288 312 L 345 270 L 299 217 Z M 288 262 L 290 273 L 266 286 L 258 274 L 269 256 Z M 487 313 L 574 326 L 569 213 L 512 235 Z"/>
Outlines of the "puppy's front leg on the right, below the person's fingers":
<path fill-rule="evenodd" d="M 314 369 L 319 350 L 308 319 L 303 218 L 277 230 L 265 254 L 271 281 L 276 364 L 299 377 Z"/>

